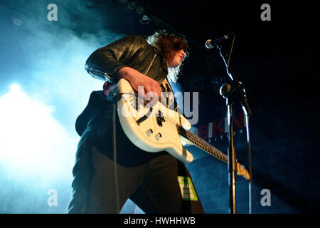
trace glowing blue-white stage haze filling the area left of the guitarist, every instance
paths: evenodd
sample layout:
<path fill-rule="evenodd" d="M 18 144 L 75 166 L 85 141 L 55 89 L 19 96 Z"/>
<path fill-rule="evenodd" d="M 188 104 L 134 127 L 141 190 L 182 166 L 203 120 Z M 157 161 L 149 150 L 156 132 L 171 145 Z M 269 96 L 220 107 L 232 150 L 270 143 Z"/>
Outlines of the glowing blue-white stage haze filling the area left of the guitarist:
<path fill-rule="evenodd" d="M 80 140 L 75 119 L 103 83 L 85 61 L 124 36 L 105 28 L 89 1 L 57 1 L 58 21 L 47 20 L 50 3 L 0 2 L 0 213 L 65 212 Z M 122 212 L 134 212 L 127 205 Z"/>

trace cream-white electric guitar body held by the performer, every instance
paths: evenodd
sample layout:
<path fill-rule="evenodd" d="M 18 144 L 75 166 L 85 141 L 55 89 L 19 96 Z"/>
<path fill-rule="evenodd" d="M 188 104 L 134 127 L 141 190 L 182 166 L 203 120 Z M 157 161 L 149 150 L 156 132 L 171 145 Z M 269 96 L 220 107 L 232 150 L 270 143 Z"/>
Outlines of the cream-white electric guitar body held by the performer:
<path fill-rule="evenodd" d="M 123 78 L 119 80 L 117 87 L 119 121 L 124 133 L 134 145 L 147 152 L 169 152 L 184 164 L 193 161 L 193 155 L 183 147 L 183 138 L 176 128 L 176 125 L 181 125 L 186 130 L 191 128 L 191 124 L 183 115 L 166 108 L 159 101 L 153 105 L 137 105 L 137 97 L 132 86 Z"/>

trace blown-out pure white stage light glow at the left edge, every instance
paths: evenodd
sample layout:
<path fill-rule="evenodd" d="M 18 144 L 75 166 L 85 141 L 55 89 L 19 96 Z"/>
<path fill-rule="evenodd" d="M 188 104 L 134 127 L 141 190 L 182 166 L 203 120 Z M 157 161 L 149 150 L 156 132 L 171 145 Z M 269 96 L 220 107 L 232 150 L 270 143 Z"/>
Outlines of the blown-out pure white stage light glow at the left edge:
<path fill-rule="evenodd" d="M 0 165 L 2 175 L 18 180 L 70 181 L 77 142 L 52 113 L 14 84 L 0 97 Z"/>

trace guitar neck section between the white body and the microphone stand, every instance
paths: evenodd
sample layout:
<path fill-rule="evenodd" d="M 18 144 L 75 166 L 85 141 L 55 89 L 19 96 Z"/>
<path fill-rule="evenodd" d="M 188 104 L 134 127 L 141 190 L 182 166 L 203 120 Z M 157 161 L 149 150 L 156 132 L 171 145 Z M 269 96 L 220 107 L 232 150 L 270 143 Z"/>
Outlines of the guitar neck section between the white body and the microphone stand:
<path fill-rule="evenodd" d="M 213 155 L 213 157 L 218 158 L 219 160 L 228 163 L 228 156 L 225 153 L 221 152 L 217 148 L 210 145 L 206 140 L 200 138 L 198 135 L 191 133 L 190 131 L 184 129 L 181 125 L 176 126 L 178 129 L 178 133 L 186 140 L 189 140 L 197 147 L 201 148 L 202 150 L 206 151 L 208 154 Z"/>

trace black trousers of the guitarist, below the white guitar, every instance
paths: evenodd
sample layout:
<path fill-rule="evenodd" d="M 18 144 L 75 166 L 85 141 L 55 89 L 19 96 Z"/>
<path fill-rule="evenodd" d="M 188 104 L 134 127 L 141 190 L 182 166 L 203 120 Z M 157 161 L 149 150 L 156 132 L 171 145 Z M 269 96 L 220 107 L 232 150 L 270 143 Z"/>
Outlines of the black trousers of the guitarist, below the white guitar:
<path fill-rule="evenodd" d="M 119 213 L 128 198 L 145 213 L 203 213 L 195 189 L 192 199 L 181 194 L 178 177 L 191 179 L 185 165 L 167 152 L 140 150 L 124 135 L 119 118 L 116 126 L 117 162 L 112 121 L 102 120 L 83 133 L 68 213 Z"/>

